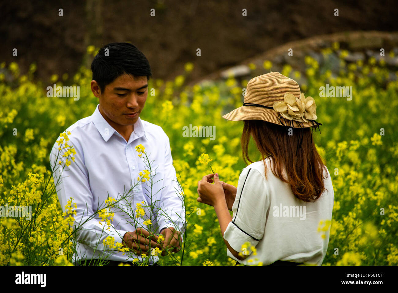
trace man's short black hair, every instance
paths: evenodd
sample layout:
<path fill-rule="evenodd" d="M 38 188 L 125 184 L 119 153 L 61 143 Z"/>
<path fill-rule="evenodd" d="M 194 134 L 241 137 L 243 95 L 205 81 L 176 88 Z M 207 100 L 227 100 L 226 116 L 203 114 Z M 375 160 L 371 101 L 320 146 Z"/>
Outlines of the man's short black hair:
<path fill-rule="evenodd" d="M 109 49 L 109 56 L 105 56 Z M 145 76 L 150 79 L 152 71 L 145 55 L 130 43 L 109 43 L 98 51 L 91 63 L 93 80 L 98 83 L 101 92 L 105 86 L 120 75 L 131 74 L 134 77 Z"/>

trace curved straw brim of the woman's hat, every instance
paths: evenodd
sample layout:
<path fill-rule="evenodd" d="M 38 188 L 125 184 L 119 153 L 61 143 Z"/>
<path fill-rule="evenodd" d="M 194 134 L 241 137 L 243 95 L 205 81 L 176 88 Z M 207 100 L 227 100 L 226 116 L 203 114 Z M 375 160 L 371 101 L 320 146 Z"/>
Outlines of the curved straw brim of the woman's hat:
<path fill-rule="evenodd" d="M 293 128 L 306 128 L 313 126 L 314 124 L 310 121 L 308 122 L 297 122 L 295 120 L 287 120 L 285 118 L 281 118 L 283 123 L 287 122 L 285 125 L 279 121 L 279 113 L 276 112 L 273 109 L 267 109 L 267 108 L 260 108 L 260 107 L 255 107 L 255 106 L 241 106 L 239 108 L 236 108 L 235 110 L 232 110 L 231 112 L 225 114 L 222 116 L 222 118 L 225 118 L 227 120 L 231 121 L 240 121 L 240 120 L 263 120 L 267 122 L 271 122 L 274 124 L 278 124 L 281 126 L 289 126 Z M 280 117 L 280 116 L 279 116 Z M 293 124 L 293 126 L 292 126 Z"/>

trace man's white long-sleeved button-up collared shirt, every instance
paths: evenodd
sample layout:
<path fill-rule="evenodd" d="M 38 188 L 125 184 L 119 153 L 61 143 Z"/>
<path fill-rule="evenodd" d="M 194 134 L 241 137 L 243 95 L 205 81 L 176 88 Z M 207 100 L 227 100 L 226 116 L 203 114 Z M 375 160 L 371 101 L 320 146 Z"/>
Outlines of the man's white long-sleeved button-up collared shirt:
<path fill-rule="evenodd" d="M 57 142 L 51 151 L 50 163 L 54 168 L 53 177 L 62 210 L 65 211 L 68 199 L 73 197 L 73 203 L 77 204 L 77 215 L 74 218 L 78 224 L 80 221 L 84 222 L 87 216 L 91 216 L 98 206 L 104 206 L 108 196 L 120 199 L 122 195 L 126 195 L 137 182 L 140 171 L 148 169 L 144 164 L 144 155 L 139 157 L 135 149 L 137 145 L 142 144 L 152 165 L 154 182 L 152 192 L 150 185 L 139 183 L 127 194 L 129 200 L 121 201 L 119 206 L 121 204 L 131 206 L 127 210 L 132 214 L 137 203 L 144 201 L 149 204 L 152 197 L 152 205 L 162 209 L 162 212 L 157 213 L 155 209 L 150 219 L 157 232 L 162 228 L 176 227 L 183 233 L 185 208 L 179 194 L 181 189 L 177 183 L 170 141 L 166 133 L 160 126 L 139 117 L 129 141 L 126 142 L 123 136 L 103 118 L 98 106 L 99 104 L 91 116 L 78 120 L 66 129 L 71 133 L 68 135 L 70 139 L 68 145 L 74 147 L 76 154 L 74 162 L 64 167 L 62 173 L 60 170 L 65 164 L 65 158 L 62 157 L 64 151 L 62 150 L 57 158 L 59 153 Z M 62 165 L 58 164 L 59 160 L 62 161 Z M 136 230 L 134 221 L 137 222 L 138 228 L 145 229 L 143 222 L 150 217 L 149 208 L 144 207 L 145 215 L 142 218 L 136 218 L 136 214 L 127 216 L 118 208 L 111 210 L 114 216 L 110 230 L 104 228 L 105 222 L 100 224 L 101 218 L 98 215 L 83 224 L 82 230 L 77 233 L 77 256 L 74 255 L 74 262 L 98 258 L 121 262 L 133 260 L 127 254 L 123 255 L 123 252 L 105 248 L 103 240 L 107 236 L 112 236 L 115 238 L 115 243 L 121 243 L 126 232 Z M 142 261 L 140 256 L 135 258 Z M 153 256 L 150 262 L 157 260 L 158 258 Z"/>

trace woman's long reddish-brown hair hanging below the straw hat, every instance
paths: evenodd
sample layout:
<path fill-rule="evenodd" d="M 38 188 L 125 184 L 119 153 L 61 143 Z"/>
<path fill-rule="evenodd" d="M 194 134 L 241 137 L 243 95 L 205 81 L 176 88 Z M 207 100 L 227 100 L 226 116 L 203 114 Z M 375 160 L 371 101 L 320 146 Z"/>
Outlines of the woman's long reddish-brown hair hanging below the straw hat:
<path fill-rule="evenodd" d="M 293 135 L 289 136 L 289 130 L 284 126 L 263 120 L 244 120 L 241 138 L 243 159 L 246 164 L 246 159 L 254 163 L 248 155 L 252 136 L 264 162 L 265 176 L 267 168 L 264 159 L 272 156 L 272 173 L 291 186 L 295 197 L 304 202 L 314 202 L 325 189 L 322 174 L 326 167 L 312 141 L 310 128 L 292 130 Z M 301 147 L 296 155 L 301 139 Z M 284 169 L 286 173 L 283 172 Z"/>

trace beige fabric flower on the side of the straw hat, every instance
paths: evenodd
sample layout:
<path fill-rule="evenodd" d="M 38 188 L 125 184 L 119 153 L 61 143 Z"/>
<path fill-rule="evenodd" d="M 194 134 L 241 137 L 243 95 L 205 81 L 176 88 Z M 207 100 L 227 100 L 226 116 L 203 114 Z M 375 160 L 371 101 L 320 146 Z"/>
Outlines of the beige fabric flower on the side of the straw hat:
<path fill-rule="evenodd" d="M 316 104 L 312 96 L 305 98 L 304 93 L 300 94 L 300 98 L 296 98 L 293 94 L 287 92 L 283 96 L 283 101 L 275 102 L 273 109 L 288 120 L 298 122 L 308 122 L 308 120 L 316 120 Z"/>

